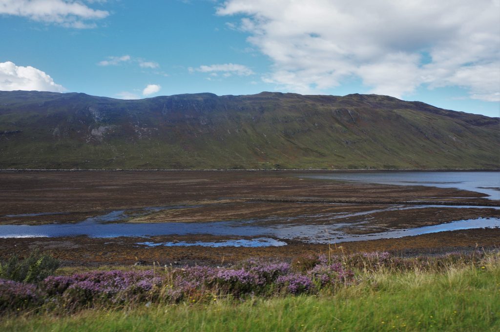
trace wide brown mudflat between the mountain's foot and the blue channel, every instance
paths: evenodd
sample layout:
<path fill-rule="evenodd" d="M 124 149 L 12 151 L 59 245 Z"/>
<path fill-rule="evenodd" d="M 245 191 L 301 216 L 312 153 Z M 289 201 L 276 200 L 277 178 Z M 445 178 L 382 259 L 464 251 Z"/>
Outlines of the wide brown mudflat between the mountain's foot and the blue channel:
<path fill-rule="evenodd" d="M 310 207 L 295 205 L 295 211 L 288 211 L 296 202 L 491 204 L 473 191 L 308 179 L 299 176 L 303 173 L 306 171 L 1 171 L 0 223 L 75 222 L 108 210 L 181 204 L 204 207 L 182 210 L 182 215 L 179 211 L 165 214 L 165 220 L 298 214 Z M 246 204 L 235 209 L 225 204 L 238 202 Z M 355 206 L 353 209 L 360 208 Z M 19 216 L 22 214 L 41 215 Z"/>

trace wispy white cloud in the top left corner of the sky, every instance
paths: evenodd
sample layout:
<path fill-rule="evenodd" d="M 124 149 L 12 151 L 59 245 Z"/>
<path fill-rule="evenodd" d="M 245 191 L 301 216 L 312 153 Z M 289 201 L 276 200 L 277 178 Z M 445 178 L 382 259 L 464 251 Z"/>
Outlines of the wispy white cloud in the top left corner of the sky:
<path fill-rule="evenodd" d="M 109 15 L 106 10 L 92 9 L 73 0 L 0 0 L 0 14 L 23 16 L 35 21 L 65 27 L 95 27 L 96 19 Z"/>

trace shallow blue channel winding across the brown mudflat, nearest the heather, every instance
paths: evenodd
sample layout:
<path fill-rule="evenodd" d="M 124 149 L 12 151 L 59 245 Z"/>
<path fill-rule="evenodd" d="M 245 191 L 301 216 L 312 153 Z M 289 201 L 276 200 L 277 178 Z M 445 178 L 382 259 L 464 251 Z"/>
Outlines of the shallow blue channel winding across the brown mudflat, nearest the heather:
<path fill-rule="evenodd" d="M 370 214 L 378 211 L 407 210 L 415 208 L 493 208 L 491 206 L 455 206 L 455 205 L 389 205 L 378 210 L 369 210 L 354 213 L 331 213 L 314 215 L 314 223 L 296 223 L 292 217 L 268 217 L 255 219 L 240 219 L 214 222 L 155 222 L 130 223 L 116 222 L 130 215 L 143 214 L 148 211 L 180 208 L 188 206 L 148 207 L 134 210 L 115 210 L 100 216 L 89 217 L 77 223 L 58 223 L 43 225 L 0 225 L 0 237 L 59 237 L 87 235 L 90 237 L 117 237 L 138 236 L 149 237 L 155 235 L 196 235 L 211 234 L 228 236 L 230 239 L 204 241 L 174 241 L 154 243 L 141 241 L 143 245 L 204 245 L 204 246 L 276 246 L 286 244 L 282 240 L 301 240 L 310 243 L 335 243 L 343 241 L 359 241 L 366 239 L 392 238 L 408 235 L 420 235 L 445 230 L 472 229 L 483 227 L 500 227 L 500 218 L 482 218 L 456 220 L 432 226 L 415 227 L 409 229 L 388 229 L 383 232 L 368 234 L 348 234 L 341 230 L 343 227 L 369 229 L 367 221 L 342 222 L 342 218 L 352 215 Z M 272 222 L 269 222 L 272 221 Z M 238 236 L 256 237 L 238 239 Z M 236 237 L 236 239 L 235 239 Z"/>

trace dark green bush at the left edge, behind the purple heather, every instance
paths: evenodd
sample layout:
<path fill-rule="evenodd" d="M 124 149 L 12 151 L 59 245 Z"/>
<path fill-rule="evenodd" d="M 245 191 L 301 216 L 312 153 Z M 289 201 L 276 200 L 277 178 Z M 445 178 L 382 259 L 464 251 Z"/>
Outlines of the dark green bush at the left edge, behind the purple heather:
<path fill-rule="evenodd" d="M 38 282 L 54 273 L 59 261 L 49 254 L 33 250 L 29 256 L 19 259 L 16 254 L 0 263 L 0 278 L 23 282 Z"/>

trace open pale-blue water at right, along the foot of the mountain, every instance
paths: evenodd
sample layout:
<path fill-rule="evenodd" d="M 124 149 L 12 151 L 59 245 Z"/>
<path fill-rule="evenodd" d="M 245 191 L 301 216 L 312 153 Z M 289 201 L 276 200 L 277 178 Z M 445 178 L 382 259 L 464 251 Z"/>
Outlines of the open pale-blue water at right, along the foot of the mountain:
<path fill-rule="evenodd" d="M 480 192 L 489 199 L 500 199 L 500 172 L 498 171 L 457 171 L 457 172 L 355 172 L 301 174 L 300 177 L 342 180 L 364 183 L 395 185 L 425 185 L 439 188 L 458 188 Z"/>

